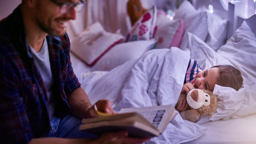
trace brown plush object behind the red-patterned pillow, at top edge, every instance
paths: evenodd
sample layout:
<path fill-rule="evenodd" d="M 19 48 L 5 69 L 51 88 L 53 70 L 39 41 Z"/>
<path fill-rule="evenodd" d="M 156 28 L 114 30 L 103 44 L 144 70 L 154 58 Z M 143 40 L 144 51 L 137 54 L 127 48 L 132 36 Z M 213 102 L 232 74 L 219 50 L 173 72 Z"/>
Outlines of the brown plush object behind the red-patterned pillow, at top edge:
<path fill-rule="evenodd" d="M 142 7 L 140 0 L 129 0 L 127 3 L 127 11 L 131 18 L 132 25 L 134 25 L 134 23 L 148 10 Z"/>

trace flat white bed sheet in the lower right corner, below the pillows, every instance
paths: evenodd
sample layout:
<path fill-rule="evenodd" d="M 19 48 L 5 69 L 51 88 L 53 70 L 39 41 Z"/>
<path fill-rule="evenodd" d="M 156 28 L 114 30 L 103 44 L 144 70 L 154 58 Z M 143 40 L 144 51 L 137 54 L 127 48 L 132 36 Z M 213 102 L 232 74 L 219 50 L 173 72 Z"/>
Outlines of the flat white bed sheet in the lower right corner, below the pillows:
<path fill-rule="evenodd" d="M 210 121 L 201 126 L 209 128 L 198 139 L 184 144 L 255 144 L 256 113 L 244 118 Z"/>

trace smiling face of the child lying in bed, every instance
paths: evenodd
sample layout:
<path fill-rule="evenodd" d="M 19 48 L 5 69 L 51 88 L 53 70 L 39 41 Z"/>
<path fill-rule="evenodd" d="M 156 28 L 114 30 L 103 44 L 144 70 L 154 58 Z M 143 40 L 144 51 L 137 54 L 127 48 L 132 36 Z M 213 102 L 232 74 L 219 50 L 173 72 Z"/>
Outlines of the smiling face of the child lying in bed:
<path fill-rule="evenodd" d="M 218 75 L 218 67 L 209 68 L 199 72 L 191 83 L 195 83 L 195 88 L 213 91 L 215 84 L 217 84 Z"/>

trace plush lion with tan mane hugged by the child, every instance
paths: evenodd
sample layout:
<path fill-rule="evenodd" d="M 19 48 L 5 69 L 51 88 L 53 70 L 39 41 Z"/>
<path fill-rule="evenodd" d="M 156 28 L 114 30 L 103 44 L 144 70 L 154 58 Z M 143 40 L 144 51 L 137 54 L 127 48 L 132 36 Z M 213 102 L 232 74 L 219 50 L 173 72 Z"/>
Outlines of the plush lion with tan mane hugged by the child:
<path fill-rule="evenodd" d="M 186 98 L 186 93 L 180 94 L 175 107 L 183 98 Z M 187 94 L 187 103 L 190 110 L 180 112 L 180 116 L 185 120 L 195 122 L 200 116 L 212 116 L 218 108 L 219 99 L 209 90 L 192 89 Z"/>

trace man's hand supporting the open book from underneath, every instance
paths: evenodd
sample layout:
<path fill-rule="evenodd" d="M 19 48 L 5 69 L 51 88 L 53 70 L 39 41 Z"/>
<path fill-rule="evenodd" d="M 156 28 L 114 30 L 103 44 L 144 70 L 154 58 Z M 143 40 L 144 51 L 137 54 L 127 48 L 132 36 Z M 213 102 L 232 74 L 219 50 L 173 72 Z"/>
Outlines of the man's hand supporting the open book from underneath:
<path fill-rule="evenodd" d="M 95 139 L 99 144 L 136 144 L 143 143 L 151 138 L 132 138 L 127 137 L 127 131 L 109 132 L 101 135 L 100 138 Z"/>

